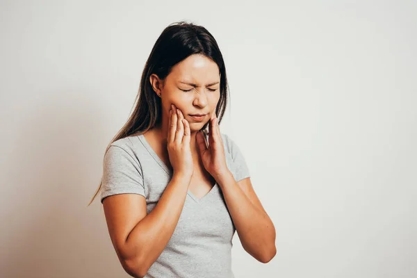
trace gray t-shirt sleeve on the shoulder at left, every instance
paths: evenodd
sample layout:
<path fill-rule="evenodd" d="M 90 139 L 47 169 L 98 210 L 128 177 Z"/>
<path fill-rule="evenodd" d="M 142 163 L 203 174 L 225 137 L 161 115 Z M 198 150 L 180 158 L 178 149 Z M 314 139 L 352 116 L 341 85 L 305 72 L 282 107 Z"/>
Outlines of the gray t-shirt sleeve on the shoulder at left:
<path fill-rule="evenodd" d="M 111 145 L 103 161 L 101 204 L 103 199 L 117 194 L 133 193 L 145 196 L 142 168 L 137 159 L 117 145 Z"/>

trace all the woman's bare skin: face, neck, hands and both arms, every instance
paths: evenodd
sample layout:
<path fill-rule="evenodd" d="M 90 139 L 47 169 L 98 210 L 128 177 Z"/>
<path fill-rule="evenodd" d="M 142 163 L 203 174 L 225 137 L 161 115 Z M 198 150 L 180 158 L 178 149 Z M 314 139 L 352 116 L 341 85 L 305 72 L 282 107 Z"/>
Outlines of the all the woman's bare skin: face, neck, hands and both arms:
<path fill-rule="evenodd" d="M 220 98 L 219 84 L 208 85 L 220 81 L 218 66 L 204 56 L 193 55 L 175 65 L 164 81 L 156 75 L 149 81 L 156 94 L 161 93 L 163 113 L 161 125 L 144 136 L 174 174 L 149 213 L 142 195 L 117 194 L 104 199 L 108 231 L 122 267 L 133 277 L 144 277 L 170 240 L 187 191 L 203 197 L 215 181 L 243 248 L 258 261 L 268 263 L 277 252 L 275 227 L 256 196 L 250 177 L 236 182 L 225 163 L 220 126 L 214 114 Z M 189 116 L 194 113 L 207 113 L 206 119 L 195 122 Z M 208 121 L 209 147 L 198 132 Z"/>

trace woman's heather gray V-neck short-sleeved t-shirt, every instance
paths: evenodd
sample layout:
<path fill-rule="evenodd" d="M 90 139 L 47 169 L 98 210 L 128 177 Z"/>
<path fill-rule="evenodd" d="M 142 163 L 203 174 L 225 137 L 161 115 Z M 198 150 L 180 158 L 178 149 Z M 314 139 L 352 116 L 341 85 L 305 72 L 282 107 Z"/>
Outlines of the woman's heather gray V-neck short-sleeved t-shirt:
<path fill-rule="evenodd" d="M 221 133 L 227 167 L 236 181 L 250 177 L 236 143 Z M 104 156 L 101 203 L 110 195 L 145 196 L 152 211 L 172 178 L 172 172 L 145 136 L 129 136 L 111 144 Z M 201 199 L 188 190 L 177 227 L 145 277 L 232 278 L 231 247 L 236 228 L 218 183 Z"/>

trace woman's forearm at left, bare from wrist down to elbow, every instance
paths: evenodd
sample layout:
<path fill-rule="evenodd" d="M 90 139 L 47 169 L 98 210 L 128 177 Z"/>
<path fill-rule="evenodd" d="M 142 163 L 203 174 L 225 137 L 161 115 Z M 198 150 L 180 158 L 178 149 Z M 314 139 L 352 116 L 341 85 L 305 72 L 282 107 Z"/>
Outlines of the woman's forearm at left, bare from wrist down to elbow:
<path fill-rule="evenodd" d="M 161 255 L 169 242 L 186 199 L 190 177 L 175 175 L 155 208 L 133 228 L 126 239 L 126 263 L 143 275 Z"/>

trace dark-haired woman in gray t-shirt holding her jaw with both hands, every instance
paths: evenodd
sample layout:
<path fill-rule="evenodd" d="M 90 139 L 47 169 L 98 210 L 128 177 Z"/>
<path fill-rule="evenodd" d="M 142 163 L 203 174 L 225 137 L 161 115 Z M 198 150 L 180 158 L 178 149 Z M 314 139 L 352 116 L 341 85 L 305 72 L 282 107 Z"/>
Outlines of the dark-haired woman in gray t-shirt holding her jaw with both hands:
<path fill-rule="evenodd" d="M 167 26 L 143 70 L 136 108 L 106 149 L 95 194 L 101 189 L 129 275 L 234 277 L 235 231 L 255 259 L 275 256 L 275 227 L 245 158 L 219 129 L 226 103 L 226 70 L 211 33 Z"/>

